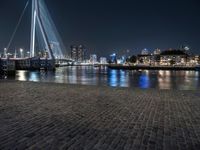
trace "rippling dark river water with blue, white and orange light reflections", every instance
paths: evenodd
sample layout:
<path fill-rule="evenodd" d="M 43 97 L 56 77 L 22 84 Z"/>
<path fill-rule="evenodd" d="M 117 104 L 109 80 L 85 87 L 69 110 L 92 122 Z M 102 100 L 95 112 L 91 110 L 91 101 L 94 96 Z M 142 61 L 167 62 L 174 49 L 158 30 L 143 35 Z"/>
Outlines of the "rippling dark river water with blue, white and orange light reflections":
<path fill-rule="evenodd" d="M 142 89 L 200 89 L 200 73 L 197 71 L 124 71 L 106 67 L 64 67 L 55 72 L 18 71 L 15 80 Z"/>

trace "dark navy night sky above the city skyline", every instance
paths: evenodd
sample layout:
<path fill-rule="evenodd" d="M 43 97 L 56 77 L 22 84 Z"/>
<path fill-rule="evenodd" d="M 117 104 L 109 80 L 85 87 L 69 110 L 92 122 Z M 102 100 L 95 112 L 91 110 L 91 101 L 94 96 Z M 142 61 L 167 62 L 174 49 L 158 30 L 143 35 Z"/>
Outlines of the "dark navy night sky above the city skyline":
<path fill-rule="evenodd" d="M 27 0 L 0 0 L 0 49 L 8 44 Z M 200 53 L 199 0 L 46 0 L 66 49 L 83 44 L 107 56 L 129 49 L 188 45 Z M 31 7 L 11 48 L 29 48 Z"/>

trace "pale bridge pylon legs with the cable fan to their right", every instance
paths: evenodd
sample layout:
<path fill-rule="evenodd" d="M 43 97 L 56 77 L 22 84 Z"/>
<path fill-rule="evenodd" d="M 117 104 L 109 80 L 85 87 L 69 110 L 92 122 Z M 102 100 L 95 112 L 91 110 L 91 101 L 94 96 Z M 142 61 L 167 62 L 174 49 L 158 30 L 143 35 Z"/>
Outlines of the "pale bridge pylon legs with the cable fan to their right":
<path fill-rule="evenodd" d="M 30 57 L 36 56 L 36 41 L 48 52 L 49 59 L 63 58 L 64 44 L 44 0 L 32 0 Z M 38 40 L 36 40 L 38 38 Z"/>

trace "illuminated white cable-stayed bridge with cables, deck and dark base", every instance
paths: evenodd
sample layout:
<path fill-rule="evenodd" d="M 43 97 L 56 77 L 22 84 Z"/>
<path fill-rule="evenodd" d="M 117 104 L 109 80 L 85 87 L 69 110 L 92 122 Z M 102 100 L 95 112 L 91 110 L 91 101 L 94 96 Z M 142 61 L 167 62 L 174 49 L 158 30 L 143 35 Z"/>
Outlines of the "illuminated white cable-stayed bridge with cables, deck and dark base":
<path fill-rule="evenodd" d="M 73 60 L 64 57 L 64 53 L 66 52 L 65 46 L 59 36 L 44 0 L 27 1 L 7 45 L 6 51 L 9 52 L 10 45 L 13 42 L 15 34 L 29 5 L 32 7 L 30 56 L 29 58 L 12 58 L 9 60 L 16 62 L 15 66 L 17 69 L 54 69 L 56 64 L 73 62 Z M 39 52 L 42 52 L 44 55 L 42 57 L 38 56 Z M 7 56 L 5 58 L 7 59 Z"/>

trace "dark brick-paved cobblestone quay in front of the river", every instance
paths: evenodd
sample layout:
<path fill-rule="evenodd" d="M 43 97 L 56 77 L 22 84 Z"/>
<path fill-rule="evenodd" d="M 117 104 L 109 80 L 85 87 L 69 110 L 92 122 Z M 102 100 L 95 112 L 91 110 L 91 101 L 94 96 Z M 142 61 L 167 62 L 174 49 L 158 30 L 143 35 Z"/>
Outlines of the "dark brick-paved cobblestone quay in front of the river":
<path fill-rule="evenodd" d="M 0 82 L 0 149 L 200 149 L 199 91 Z"/>

